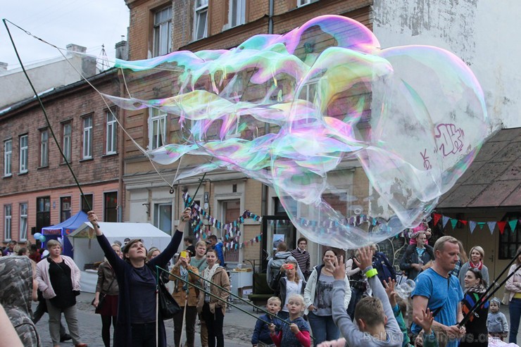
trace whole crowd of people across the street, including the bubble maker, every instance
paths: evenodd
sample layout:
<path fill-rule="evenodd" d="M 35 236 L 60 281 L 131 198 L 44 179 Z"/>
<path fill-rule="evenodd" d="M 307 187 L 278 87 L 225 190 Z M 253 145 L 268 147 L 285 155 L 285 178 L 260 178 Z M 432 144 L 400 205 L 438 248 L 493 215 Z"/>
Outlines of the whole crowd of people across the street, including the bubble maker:
<path fill-rule="evenodd" d="M 105 255 L 92 300 L 101 317 L 104 346 L 166 346 L 163 317 L 156 310 L 157 267 L 169 270 L 161 273 L 161 282 L 172 282 L 171 295 L 180 308 L 173 316 L 175 346 L 195 345 L 196 324 L 201 325 L 202 346 L 225 346 L 223 324 L 230 278 L 223 246 L 215 236 L 196 244 L 190 237 L 183 239 L 190 213 L 189 208 L 184 210 L 163 251 L 147 250 L 140 239 L 110 244 L 96 215 L 89 213 Z M 252 327 L 252 346 L 456 347 L 489 346 L 489 341 L 503 339 L 517 343 L 521 247 L 508 270 L 506 299 L 484 301 L 490 284 L 484 249 L 473 246 L 467 258 L 458 239 L 441 236 L 430 243 L 431 236 L 426 227 L 413 229 L 398 261 L 401 272 L 396 272 L 375 245 L 355 250 L 345 263 L 339 250 L 325 248 L 322 263 L 311 267 L 305 238 L 297 241 L 293 251 L 281 241 L 268 262 L 267 279 L 274 296 L 268 299 L 266 314 Z M 183 251 L 175 254 L 182 241 Z M 86 347 L 76 308 L 80 270 L 72 258 L 62 254 L 60 242 L 49 240 L 46 248 L 43 253 L 35 245 L 26 248 L 11 242 L 3 250 L 0 319 L 11 321 L 20 346 L 42 346 L 35 324 L 48 313 L 54 346 L 72 339 L 76 347 Z M 397 275 L 401 281 L 415 282 L 406 298 L 397 294 Z M 34 314 L 32 301 L 39 302 Z M 508 303 L 510 324 L 499 311 L 501 303 Z M 61 323 L 62 315 L 68 332 Z M 182 341 L 183 332 L 186 341 Z M 6 328 L 5 334 L 13 332 Z"/>

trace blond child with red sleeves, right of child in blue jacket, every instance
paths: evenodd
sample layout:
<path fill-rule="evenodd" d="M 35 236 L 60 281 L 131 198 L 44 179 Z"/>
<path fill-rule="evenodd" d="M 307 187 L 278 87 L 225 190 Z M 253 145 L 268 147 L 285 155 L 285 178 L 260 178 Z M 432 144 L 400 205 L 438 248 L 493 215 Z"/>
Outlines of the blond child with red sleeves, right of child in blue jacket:
<path fill-rule="evenodd" d="M 282 323 L 278 334 L 275 333 L 275 324 L 270 324 L 271 339 L 277 347 L 310 347 L 309 325 L 301 317 L 304 312 L 304 298 L 300 294 L 291 294 L 287 301 L 290 324 Z"/>

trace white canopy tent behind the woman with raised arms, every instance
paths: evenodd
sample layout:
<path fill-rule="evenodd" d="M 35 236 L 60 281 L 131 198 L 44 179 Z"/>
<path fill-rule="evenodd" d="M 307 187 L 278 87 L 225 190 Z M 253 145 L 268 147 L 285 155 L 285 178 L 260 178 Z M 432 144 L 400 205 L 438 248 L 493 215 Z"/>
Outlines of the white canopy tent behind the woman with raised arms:
<path fill-rule="evenodd" d="M 142 239 L 146 249 L 157 247 L 163 251 L 172 239 L 172 236 L 149 223 L 99 222 L 99 228 L 111 244 L 114 241 L 120 241 L 123 244 L 126 238 Z M 92 265 L 103 261 L 104 255 L 95 236 L 94 239 L 90 239 L 89 235 L 95 235 L 94 229 L 90 222 L 84 222 L 67 236 L 70 238 L 70 243 L 73 244 L 74 261 L 82 271 L 81 290 L 94 293 L 98 275 L 95 270 L 92 270 Z"/>

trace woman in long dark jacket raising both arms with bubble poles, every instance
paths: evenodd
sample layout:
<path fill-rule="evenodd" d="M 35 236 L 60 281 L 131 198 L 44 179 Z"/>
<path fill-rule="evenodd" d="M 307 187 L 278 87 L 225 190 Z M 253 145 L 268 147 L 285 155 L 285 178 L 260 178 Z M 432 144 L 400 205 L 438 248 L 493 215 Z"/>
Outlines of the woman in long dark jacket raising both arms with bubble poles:
<path fill-rule="evenodd" d="M 111 264 L 120 289 L 118 298 L 118 321 L 114 333 L 114 346 L 166 346 L 166 333 L 163 318 L 156 319 L 156 266 L 165 267 L 179 245 L 187 220 L 190 219 L 190 209 L 186 208 L 180 218 L 178 229 L 172 241 L 163 253 L 145 264 L 146 248 L 139 239 L 128 242 L 123 249 L 121 259 L 111 248 L 111 244 L 97 225 L 98 217 L 89 211 L 89 221 L 94 226 L 99 245 Z M 156 324 L 158 330 L 156 331 Z"/>

